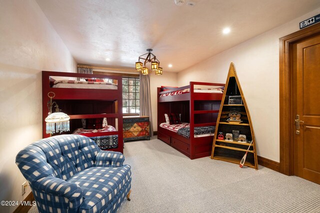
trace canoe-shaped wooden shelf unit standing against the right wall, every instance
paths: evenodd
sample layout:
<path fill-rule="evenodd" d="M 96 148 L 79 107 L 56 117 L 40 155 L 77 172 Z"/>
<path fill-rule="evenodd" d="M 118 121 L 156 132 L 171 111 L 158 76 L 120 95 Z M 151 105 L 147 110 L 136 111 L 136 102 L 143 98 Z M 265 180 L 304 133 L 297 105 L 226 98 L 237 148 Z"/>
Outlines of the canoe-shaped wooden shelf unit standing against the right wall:
<path fill-rule="evenodd" d="M 228 94 L 226 94 L 228 91 Z M 235 72 L 234 64 L 231 62 L 229 67 L 228 76 L 225 82 L 224 93 L 222 96 L 222 103 L 227 102 L 227 95 L 239 94 L 242 100 L 242 104 L 223 104 L 220 105 L 220 110 L 218 113 L 218 117 L 216 120 L 215 126 L 215 137 L 213 138 L 212 144 L 212 152 L 211 152 L 211 159 L 227 161 L 230 163 L 240 164 L 239 158 L 242 156 L 242 152 L 250 153 L 250 162 L 247 160 L 245 161 L 244 165 L 258 169 L 258 162 L 256 156 L 256 146 L 255 146 L 255 138 L 253 133 L 252 122 L 249 114 L 249 110 L 247 108 L 247 104 L 245 102 L 245 98 L 238 80 L 238 77 Z M 241 111 L 238 112 L 240 115 L 236 114 L 236 118 L 230 118 L 229 120 L 233 119 L 240 119 L 243 123 L 236 123 L 236 122 L 227 122 L 226 119 L 232 117 L 233 115 L 228 115 L 232 111 Z M 250 143 L 240 143 L 237 141 L 226 141 L 226 140 L 219 140 L 217 139 L 217 134 L 220 133 L 232 133 L 233 131 L 238 131 L 238 134 L 245 135 L 247 139 L 252 140 L 250 150 L 247 150 L 250 146 Z M 234 138 L 234 135 L 233 135 Z M 253 156 L 252 156 L 253 154 Z M 241 157 L 240 157 L 241 156 Z M 253 158 L 252 158 L 253 157 Z"/>

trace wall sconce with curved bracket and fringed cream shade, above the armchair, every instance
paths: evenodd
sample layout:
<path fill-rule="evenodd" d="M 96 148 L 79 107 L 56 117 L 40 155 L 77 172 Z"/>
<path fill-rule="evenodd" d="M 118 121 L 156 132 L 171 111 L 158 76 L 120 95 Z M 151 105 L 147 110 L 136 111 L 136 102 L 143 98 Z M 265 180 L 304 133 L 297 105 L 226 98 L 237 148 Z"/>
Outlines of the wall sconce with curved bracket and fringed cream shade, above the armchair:
<path fill-rule="evenodd" d="M 52 96 L 50 96 L 50 93 L 52 93 Z M 52 102 L 52 98 L 54 98 L 55 94 L 54 92 L 49 92 L 48 97 L 50 98 L 50 101 L 48 101 L 48 116 L 45 118 L 46 126 L 45 126 L 45 133 L 46 134 L 53 134 L 56 132 L 65 132 L 70 130 L 70 124 L 69 120 L 70 117 L 60 112 L 59 106 L 56 102 Z M 52 113 L 52 106 L 55 104 L 55 112 Z"/>

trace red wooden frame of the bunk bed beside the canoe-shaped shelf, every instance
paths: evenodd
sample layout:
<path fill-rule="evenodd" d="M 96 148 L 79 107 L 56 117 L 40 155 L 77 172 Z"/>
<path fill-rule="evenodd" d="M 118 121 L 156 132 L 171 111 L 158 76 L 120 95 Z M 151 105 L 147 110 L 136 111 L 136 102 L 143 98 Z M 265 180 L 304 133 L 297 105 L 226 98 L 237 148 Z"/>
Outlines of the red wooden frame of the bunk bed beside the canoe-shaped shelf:
<path fill-rule="evenodd" d="M 194 138 L 194 127 L 215 126 L 223 93 L 194 92 L 194 85 L 221 86 L 220 83 L 190 82 L 189 85 L 161 91 L 157 88 L 157 137 L 190 159 L 211 155 L 213 135 Z M 188 93 L 163 96 L 161 94 L 189 89 Z M 181 121 L 190 123 L 190 137 L 160 127 L 164 113 L 181 113 Z M 210 121 L 209 121 L 210 120 Z"/>

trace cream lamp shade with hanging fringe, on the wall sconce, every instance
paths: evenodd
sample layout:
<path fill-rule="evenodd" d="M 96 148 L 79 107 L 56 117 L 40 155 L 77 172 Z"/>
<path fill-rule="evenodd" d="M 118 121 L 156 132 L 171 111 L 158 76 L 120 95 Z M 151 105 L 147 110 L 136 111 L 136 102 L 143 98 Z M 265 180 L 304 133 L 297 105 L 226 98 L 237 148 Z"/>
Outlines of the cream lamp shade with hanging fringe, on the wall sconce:
<path fill-rule="evenodd" d="M 63 113 L 63 112 L 53 112 L 49 114 L 45 118 L 46 122 L 46 128 L 45 133 L 46 134 L 52 134 L 56 132 L 65 132 L 70 130 L 70 124 L 69 124 L 70 117 Z"/>

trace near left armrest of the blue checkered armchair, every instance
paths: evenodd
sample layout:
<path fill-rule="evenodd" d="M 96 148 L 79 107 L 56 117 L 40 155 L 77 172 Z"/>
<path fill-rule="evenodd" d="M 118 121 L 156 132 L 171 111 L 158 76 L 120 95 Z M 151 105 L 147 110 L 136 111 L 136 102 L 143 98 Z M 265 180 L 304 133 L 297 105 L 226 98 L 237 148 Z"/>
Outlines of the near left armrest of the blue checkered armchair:
<path fill-rule="evenodd" d="M 41 178 L 33 182 L 31 187 L 35 192 L 35 200 L 43 204 L 44 199 L 45 205 L 49 208 L 65 206 L 68 212 L 73 213 L 78 212 L 83 202 L 80 187 L 55 177 Z"/>

